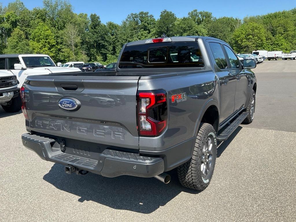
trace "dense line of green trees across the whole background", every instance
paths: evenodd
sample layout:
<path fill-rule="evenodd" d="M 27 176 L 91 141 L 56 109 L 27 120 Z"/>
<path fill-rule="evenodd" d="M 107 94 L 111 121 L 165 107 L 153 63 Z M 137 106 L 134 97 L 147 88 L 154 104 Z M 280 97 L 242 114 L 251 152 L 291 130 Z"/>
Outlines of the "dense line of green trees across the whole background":
<path fill-rule="evenodd" d="M 29 10 L 16 0 L 0 3 L 0 54 L 43 53 L 56 62 L 117 60 L 126 42 L 167 36 L 220 38 L 236 52 L 296 50 L 296 8 L 267 15 L 213 17 L 211 12 L 189 12 L 177 18 L 164 10 L 160 17 L 132 13 L 121 24 L 103 24 L 99 15 L 76 14 L 67 0 L 44 0 L 42 8 Z"/>

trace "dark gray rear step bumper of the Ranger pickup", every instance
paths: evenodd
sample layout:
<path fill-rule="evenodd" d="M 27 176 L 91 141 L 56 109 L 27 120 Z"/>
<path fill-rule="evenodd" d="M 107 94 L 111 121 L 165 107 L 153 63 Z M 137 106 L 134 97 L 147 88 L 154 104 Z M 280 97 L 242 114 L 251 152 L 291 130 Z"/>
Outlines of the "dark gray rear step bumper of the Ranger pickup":
<path fill-rule="evenodd" d="M 99 158 L 91 159 L 62 152 L 57 149 L 54 139 L 30 133 L 22 135 L 22 144 L 36 152 L 41 159 L 65 166 L 74 166 L 106 177 L 131 175 L 153 177 L 164 171 L 164 161 L 160 157 L 145 157 L 135 153 L 105 149 Z"/>

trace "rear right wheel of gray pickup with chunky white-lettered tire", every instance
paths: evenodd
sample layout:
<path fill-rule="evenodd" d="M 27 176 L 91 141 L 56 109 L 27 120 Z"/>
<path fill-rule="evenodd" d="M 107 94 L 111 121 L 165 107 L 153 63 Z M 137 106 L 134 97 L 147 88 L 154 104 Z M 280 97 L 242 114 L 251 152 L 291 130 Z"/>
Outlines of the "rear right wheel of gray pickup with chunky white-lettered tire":
<path fill-rule="evenodd" d="M 192 158 L 177 167 L 180 183 L 190 189 L 204 190 L 213 176 L 217 155 L 216 133 L 212 125 L 201 123 Z"/>

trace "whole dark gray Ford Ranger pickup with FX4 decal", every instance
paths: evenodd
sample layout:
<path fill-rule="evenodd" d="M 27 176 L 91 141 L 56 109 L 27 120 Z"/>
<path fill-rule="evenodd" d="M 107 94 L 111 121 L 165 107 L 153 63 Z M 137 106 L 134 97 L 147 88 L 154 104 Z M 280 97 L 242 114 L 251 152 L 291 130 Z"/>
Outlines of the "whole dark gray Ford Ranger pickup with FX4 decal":
<path fill-rule="evenodd" d="M 217 141 L 254 118 L 254 67 L 215 38 L 127 43 L 115 71 L 28 76 L 22 143 L 68 174 L 168 183 L 177 168 L 183 186 L 203 190 Z"/>

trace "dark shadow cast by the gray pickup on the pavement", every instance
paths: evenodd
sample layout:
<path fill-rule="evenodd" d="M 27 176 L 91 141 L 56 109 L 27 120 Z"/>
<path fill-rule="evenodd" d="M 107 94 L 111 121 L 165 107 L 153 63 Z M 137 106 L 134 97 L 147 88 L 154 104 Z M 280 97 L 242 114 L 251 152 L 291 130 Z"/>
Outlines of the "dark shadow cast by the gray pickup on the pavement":
<path fill-rule="evenodd" d="M 229 139 L 221 144 L 217 157 L 227 148 L 241 128 L 237 128 Z M 163 184 L 155 178 L 133 176 L 107 178 L 94 173 L 85 176 L 74 173 L 68 175 L 63 165 L 55 163 L 43 179 L 57 189 L 79 196 L 79 202 L 91 200 L 118 210 L 149 214 L 166 205 L 181 192 L 200 193 L 181 186 L 175 169 L 167 173 L 170 174 L 171 181 L 169 184 Z"/>

